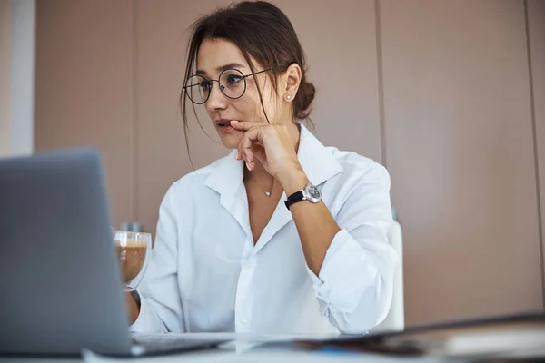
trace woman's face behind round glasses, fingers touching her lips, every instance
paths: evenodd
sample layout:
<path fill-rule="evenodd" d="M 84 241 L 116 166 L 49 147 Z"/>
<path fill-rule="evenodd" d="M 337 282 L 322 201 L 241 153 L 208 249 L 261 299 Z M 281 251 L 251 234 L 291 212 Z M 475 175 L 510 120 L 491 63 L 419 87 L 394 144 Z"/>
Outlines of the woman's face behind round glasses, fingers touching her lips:
<path fill-rule="evenodd" d="M 256 73 L 263 71 L 260 64 L 256 64 L 254 61 L 253 64 Z M 238 46 L 223 39 L 204 40 L 197 56 L 197 74 L 207 80 L 218 80 L 225 69 L 235 69 L 244 75 L 252 74 L 250 66 Z M 229 73 L 230 75 L 225 77 L 227 74 L 223 74 L 222 78 L 231 79 L 232 85 L 223 84 L 225 92 L 229 93 L 229 89 L 233 90 L 236 87 L 242 87 L 242 90 L 244 80 L 240 76 L 241 74 Z M 225 96 L 220 90 L 219 84 L 212 82 L 212 89 L 204 106 L 225 147 L 236 149 L 243 136 L 243 132 L 234 130 L 229 125 L 231 120 L 241 123 L 247 121 L 267 123 L 257 91 L 256 78 L 262 90 L 263 105 L 269 121 L 271 123 L 292 122 L 289 117 L 289 103 L 282 102 L 282 98 L 279 98 L 274 92 L 269 76 L 268 72 L 263 72 L 246 77 L 246 91 L 242 97 L 237 99 Z M 282 90 L 282 81 L 281 76 L 279 77 L 279 91 Z M 285 81 L 283 82 L 285 83 Z"/>

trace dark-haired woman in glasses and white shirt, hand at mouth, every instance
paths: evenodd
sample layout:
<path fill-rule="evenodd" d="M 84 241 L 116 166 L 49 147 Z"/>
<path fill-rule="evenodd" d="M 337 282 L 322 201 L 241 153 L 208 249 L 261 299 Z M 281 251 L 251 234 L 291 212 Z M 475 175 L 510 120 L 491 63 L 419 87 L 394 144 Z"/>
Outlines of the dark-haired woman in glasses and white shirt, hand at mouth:
<path fill-rule="evenodd" d="M 385 318 L 395 252 L 381 165 L 326 148 L 298 120 L 314 87 L 292 24 L 265 2 L 193 25 L 183 86 L 228 156 L 163 199 L 134 331 L 361 333 Z"/>

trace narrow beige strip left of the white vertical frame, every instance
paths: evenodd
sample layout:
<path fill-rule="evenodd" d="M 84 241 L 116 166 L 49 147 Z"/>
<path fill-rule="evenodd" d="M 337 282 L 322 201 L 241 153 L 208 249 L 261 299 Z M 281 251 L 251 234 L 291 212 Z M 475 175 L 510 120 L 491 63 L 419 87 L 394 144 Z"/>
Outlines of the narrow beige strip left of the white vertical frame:
<path fill-rule="evenodd" d="M 9 154 L 11 0 L 0 0 L 0 158 Z"/>

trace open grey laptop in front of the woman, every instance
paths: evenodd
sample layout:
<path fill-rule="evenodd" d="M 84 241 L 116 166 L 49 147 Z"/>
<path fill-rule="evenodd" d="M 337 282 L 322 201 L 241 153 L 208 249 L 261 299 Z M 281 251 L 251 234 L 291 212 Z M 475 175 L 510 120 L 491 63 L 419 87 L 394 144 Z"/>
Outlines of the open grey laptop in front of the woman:
<path fill-rule="evenodd" d="M 0 160 L 0 356 L 131 357 L 223 340 L 129 332 L 100 155 Z"/>

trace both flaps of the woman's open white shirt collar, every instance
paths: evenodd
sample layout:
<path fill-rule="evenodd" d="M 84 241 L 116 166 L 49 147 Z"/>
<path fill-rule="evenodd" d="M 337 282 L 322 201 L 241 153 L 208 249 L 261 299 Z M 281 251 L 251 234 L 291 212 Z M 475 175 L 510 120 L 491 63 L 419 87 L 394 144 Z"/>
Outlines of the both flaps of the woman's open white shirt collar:
<path fill-rule="evenodd" d="M 314 185 L 322 184 L 334 175 L 342 172 L 342 166 L 327 150 L 322 142 L 302 123 L 297 157 L 309 181 Z M 206 186 L 221 195 L 222 202 L 229 205 L 243 182 L 243 161 L 235 159 L 236 150 L 219 160 L 208 178 Z"/>

